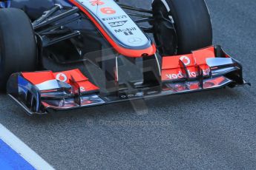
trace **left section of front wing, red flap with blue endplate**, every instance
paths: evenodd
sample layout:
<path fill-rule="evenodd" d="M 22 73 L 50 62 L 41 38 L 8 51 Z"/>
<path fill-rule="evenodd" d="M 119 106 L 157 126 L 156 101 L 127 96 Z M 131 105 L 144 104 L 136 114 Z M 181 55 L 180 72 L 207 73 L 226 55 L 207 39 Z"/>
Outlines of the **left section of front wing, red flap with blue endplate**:
<path fill-rule="evenodd" d="M 105 103 L 99 98 L 99 87 L 79 69 L 15 73 L 8 81 L 7 92 L 30 115 Z"/>

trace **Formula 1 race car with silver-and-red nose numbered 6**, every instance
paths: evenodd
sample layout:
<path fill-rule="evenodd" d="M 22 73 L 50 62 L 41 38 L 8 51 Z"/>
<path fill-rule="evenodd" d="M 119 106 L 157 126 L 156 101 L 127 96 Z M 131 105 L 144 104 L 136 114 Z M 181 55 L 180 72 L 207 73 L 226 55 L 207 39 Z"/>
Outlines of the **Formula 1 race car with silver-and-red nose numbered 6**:
<path fill-rule="evenodd" d="M 204 0 L 127 3 L 0 1 L 1 89 L 33 115 L 246 84 Z"/>

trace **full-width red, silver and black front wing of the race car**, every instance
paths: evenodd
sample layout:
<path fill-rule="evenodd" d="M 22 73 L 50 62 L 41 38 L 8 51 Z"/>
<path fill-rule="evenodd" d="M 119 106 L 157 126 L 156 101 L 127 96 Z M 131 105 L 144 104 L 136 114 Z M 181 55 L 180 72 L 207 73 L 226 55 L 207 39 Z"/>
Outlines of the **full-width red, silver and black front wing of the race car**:
<path fill-rule="evenodd" d="M 7 94 L 29 115 L 106 103 L 198 92 L 247 84 L 241 64 L 220 47 L 187 55 L 164 56 L 159 86 L 134 86 L 131 93 L 103 94 L 79 69 L 65 72 L 19 72 L 10 76 Z"/>

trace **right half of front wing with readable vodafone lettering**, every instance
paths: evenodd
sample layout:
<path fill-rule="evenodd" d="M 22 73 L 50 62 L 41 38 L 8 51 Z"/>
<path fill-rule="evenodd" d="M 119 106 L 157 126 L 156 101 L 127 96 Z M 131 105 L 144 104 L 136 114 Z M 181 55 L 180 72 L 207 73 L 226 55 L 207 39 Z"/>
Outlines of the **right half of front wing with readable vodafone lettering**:
<path fill-rule="evenodd" d="M 223 86 L 241 86 L 242 65 L 220 46 L 196 50 L 188 55 L 163 57 L 162 81 L 166 90 L 191 92 Z"/>

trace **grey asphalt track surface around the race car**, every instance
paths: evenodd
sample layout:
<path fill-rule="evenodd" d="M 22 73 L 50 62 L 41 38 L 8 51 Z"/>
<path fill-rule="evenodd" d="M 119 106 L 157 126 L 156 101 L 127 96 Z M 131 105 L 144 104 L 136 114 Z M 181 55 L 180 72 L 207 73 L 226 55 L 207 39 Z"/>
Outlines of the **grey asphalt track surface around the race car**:
<path fill-rule="evenodd" d="M 146 6 L 142 0 L 130 3 Z M 28 117 L 1 94 L 0 123 L 55 169 L 255 169 L 256 2 L 207 3 L 214 43 L 243 63 L 252 87 L 116 103 L 42 118 Z M 137 107 L 140 104 L 142 108 Z"/>

